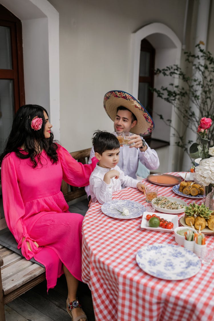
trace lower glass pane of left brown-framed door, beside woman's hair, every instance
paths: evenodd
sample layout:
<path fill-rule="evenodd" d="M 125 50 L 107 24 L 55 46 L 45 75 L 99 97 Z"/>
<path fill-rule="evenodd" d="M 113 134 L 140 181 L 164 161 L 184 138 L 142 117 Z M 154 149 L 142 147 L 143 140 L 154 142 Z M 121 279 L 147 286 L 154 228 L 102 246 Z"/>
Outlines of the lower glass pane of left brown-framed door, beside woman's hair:
<path fill-rule="evenodd" d="M 13 80 L 0 79 L 0 153 L 13 122 Z"/>

